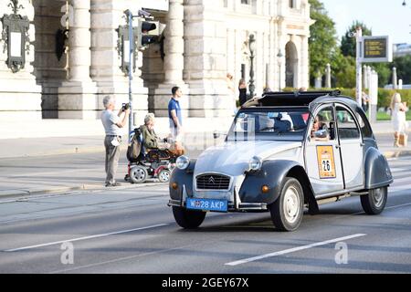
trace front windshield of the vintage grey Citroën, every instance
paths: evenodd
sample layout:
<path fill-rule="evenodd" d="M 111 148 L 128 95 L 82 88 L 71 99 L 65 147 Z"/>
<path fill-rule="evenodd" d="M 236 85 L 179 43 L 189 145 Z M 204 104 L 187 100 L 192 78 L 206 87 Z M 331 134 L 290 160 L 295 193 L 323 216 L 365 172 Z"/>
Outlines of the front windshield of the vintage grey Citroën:
<path fill-rule="evenodd" d="M 302 141 L 309 116 L 308 108 L 241 110 L 228 132 L 227 141 Z"/>

